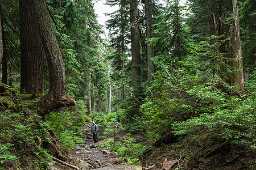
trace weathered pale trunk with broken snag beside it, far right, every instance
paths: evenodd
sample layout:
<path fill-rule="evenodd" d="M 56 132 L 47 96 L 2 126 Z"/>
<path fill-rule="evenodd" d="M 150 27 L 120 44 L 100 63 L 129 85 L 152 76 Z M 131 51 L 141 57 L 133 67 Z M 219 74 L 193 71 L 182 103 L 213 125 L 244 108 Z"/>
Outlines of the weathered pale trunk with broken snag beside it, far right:
<path fill-rule="evenodd" d="M 243 63 L 242 63 L 242 50 L 240 40 L 240 26 L 238 21 L 237 1 L 233 0 L 233 24 L 227 24 L 219 18 L 218 33 L 219 35 L 225 35 L 223 39 L 230 38 L 220 46 L 221 53 L 230 53 L 225 57 L 232 60 L 228 63 L 232 67 L 232 73 L 228 73 L 225 67 L 221 67 L 221 72 L 226 73 L 226 76 L 222 76 L 224 82 L 229 83 L 231 86 L 238 86 L 237 90 L 242 94 L 245 92 L 243 84 Z"/>

